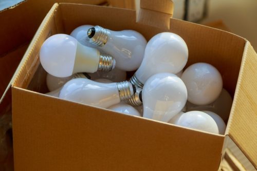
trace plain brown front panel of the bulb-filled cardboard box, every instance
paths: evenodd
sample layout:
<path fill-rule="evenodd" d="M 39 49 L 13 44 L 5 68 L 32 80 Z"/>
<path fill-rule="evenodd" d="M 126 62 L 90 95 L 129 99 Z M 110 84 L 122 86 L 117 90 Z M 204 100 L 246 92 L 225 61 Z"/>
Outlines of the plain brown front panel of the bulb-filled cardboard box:
<path fill-rule="evenodd" d="M 221 135 L 17 87 L 12 96 L 15 170 L 216 171 L 221 160 Z"/>

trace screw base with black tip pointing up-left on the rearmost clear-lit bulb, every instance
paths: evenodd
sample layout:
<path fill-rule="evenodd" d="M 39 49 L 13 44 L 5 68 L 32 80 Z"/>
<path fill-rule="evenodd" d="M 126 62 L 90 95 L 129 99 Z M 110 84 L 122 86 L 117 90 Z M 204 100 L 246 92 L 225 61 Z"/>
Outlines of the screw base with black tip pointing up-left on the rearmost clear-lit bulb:
<path fill-rule="evenodd" d="M 108 41 L 108 36 L 111 34 L 107 29 L 95 26 L 87 30 L 87 37 L 91 44 L 104 46 Z"/>

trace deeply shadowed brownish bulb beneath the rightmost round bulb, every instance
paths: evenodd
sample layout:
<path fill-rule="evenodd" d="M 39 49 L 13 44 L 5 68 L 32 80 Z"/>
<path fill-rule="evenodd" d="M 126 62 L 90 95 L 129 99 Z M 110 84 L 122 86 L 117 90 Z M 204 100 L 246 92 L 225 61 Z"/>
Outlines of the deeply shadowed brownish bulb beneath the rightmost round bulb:
<path fill-rule="evenodd" d="M 208 110 L 216 113 L 220 116 L 224 121 L 227 121 L 231 106 L 232 106 L 232 98 L 227 90 L 222 89 L 221 94 L 219 94 L 218 98 L 211 104 L 207 105 L 195 105 L 190 103 L 189 101 L 186 103 L 187 111 L 192 110 Z"/>

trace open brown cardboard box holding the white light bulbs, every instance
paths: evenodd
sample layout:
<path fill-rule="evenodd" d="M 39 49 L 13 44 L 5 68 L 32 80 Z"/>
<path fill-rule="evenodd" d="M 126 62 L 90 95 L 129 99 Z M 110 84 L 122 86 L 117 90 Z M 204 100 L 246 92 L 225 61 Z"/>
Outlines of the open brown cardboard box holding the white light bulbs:
<path fill-rule="evenodd" d="M 54 4 L 36 32 L 12 82 L 15 170 L 217 170 L 229 136 L 256 167 L 257 55 L 235 34 L 175 20 L 172 2 L 141 0 L 140 11 L 81 4 Z M 225 135 L 49 97 L 39 61 L 52 34 L 100 25 L 133 29 L 146 40 L 179 34 L 189 48 L 187 65 L 207 62 L 222 74 L 234 97 Z M 40 74 L 39 74 L 40 73 Z M 40 86 L 31 86 L 38 82 Z M 35 92 L 38 91 L 38 92 Z"/>

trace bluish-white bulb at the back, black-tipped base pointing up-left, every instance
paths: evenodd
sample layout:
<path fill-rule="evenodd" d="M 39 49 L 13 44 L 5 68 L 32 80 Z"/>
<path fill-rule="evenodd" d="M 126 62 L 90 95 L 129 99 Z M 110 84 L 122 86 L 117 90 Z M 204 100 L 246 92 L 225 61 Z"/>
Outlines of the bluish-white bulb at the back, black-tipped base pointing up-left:
<path fill-rule="evenodd" d="M 116 67 L 124 71 L 136 70 L 144 55 L 146 40 L 137 31 L 112 31 L 100 26 L 88 29 L 89 42 L 98 45 L 98 49 L 111 54 Z"/>

